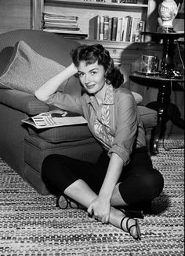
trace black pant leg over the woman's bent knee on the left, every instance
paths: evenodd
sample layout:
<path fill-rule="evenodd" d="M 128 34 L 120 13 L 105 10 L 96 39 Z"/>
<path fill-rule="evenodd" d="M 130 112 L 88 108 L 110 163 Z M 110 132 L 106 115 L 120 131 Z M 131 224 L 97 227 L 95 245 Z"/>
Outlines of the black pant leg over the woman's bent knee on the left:
<path fill-rule="evenodd" d="M 42 163 L 42 179 L 49 191 L 61 195 L 74 181 L 82 179 L 96 193 L 100 191 L 107 166 L 102 167 L 87 161 L 52 154 Z"/>

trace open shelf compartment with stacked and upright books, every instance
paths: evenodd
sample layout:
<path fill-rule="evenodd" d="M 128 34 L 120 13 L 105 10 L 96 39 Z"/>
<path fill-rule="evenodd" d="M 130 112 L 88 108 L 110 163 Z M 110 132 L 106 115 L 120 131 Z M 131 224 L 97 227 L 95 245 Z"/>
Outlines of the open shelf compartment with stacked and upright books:
<path fill-rule="evenodd" d="M 143 43 L 147 0 L 34 0 L 38 28 L 74 39 Z M 39 17 L 40 16 L 40 17 Z M 37 27 L 37 26 L 36 26 Z"/>

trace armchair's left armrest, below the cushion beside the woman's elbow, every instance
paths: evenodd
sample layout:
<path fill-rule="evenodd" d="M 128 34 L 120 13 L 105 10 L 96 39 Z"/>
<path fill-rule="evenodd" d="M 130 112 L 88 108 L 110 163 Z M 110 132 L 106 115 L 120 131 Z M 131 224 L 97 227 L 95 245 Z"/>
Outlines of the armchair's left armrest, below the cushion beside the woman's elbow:
<path fill-rule="evenodd" d="M 39 101 L 34 95 L 12 89 L 0 89 L 0 103 L 18 109 L 27 115 L 49 111 L 49 106 L 45 102 Z"/>

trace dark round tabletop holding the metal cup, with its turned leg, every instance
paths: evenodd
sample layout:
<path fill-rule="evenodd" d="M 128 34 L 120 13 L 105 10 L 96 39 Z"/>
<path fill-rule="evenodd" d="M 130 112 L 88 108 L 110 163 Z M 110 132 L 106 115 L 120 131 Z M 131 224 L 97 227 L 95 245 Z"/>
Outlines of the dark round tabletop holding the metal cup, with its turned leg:
<path fill-rule="evenodd" d="M 133 72 L 130 75 L 130 79 L 135 83 L 140 83 L 147 87 L 158 88 L 157 107 L 154 107 L 154 109 L 158 111 L 158 122 L 156 128 L 154 128 L 153 142 L 151 143 L 151 154 L 158 154 L 158 140 L 161 132 L 164 132 L 165 122 L 168 121 L 168 110 L 172 88 L 179 87 L 178 89 L 183 91 L 183 88 L 180 87 L 179 83 L 184 82 L 184 77 L 164 78 L 161 76 L 150 76 L 140 74 L 140 72 Z M 150 107 L 151 103 L 149 103 L 147 107 Z"/>

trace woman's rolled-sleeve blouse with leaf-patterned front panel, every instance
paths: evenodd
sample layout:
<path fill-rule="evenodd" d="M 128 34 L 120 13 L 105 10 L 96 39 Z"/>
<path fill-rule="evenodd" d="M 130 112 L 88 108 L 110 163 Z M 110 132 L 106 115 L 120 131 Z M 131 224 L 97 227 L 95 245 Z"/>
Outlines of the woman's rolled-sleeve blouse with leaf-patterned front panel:
<path fill-rule="evenodd" d="M 132 93 L 123 87 L 106 86 L 100 105 L 93 95 L 85 93 L 79 97 L 61 92 L 51 95 L 47 103 L 84 116 L 109 156 L 113 152 L 118 154 L 126 165 L 133 147 L 146 146 L 143 124 Z"/>

